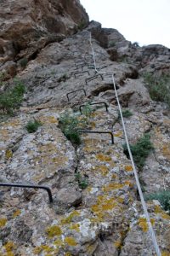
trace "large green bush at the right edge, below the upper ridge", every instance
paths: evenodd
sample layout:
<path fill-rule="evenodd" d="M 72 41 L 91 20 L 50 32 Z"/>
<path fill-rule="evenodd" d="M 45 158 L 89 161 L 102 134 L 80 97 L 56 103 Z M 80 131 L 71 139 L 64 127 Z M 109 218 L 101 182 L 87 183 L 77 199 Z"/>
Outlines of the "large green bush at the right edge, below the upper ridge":
<path fill-rule="evenodd" d="M 156 78 L 151 73 L 144 73 L 144 83 L 150 92 L 152 100 L 165 102 L 170 108 L 170 75 L 163 74 L 161 77 Z"/>

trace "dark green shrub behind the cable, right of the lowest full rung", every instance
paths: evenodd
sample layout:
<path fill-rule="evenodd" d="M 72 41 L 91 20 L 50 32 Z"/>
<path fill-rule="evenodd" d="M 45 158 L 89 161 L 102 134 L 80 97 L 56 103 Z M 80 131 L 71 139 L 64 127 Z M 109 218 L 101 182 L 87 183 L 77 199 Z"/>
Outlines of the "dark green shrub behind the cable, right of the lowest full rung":
<path fill-rule="evenodd" d="M 133 160 L 136 164 L 136 166 L 139 167 L 139 169 L 142 169 L 144 166 L 144 162 L 147 159 L 148 155 L 150 154 L 150 151 L 153 149 L 153 145 L 150 142 L 150 134 L 146 133 L 143 137 L 139 138 L 138 142 L 130 145 L 132 154 L 133 154 Z M 124 154 L 127 155 L 127 158 L 129 158 L 127 145 L 123 145 Z"/>

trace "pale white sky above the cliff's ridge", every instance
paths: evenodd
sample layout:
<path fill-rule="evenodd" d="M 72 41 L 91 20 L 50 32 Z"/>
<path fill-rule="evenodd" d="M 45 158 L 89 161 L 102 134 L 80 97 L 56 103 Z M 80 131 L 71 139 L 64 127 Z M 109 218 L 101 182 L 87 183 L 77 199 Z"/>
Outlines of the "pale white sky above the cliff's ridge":
<path fill-rule="evenodd" d="M 170 48 L 170 0 L 80 0 L 90 20 L 116 28 L 140 46 Z"/>

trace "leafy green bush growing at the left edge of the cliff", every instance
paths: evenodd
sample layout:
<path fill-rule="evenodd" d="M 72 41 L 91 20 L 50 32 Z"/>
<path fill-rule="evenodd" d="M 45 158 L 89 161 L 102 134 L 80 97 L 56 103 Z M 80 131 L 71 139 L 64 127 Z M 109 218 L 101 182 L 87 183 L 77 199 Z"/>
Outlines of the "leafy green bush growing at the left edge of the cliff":
<path fill-rule="evenodd" d="M 0 113 L 13 114 L 20 108 L 25 91 L 25 85 L 19 79 L 14 79 L 14 87 L 0 95 Z"/>

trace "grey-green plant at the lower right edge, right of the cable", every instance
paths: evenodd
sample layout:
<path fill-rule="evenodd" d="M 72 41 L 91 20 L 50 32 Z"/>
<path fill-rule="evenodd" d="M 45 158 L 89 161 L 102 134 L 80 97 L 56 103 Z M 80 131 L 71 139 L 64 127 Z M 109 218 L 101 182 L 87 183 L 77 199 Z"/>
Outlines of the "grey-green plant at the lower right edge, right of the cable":
<path fill-rule="evenodd" d="M 145 200 L 158 200 L 161 207 L 170 214 L 170 190 L 145 195 Z"/>

